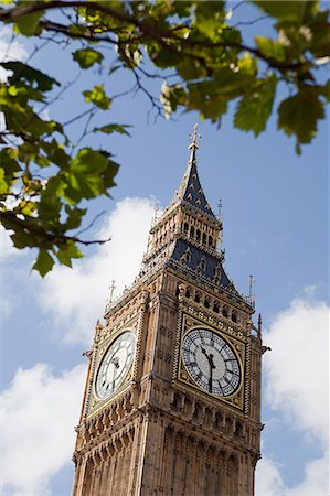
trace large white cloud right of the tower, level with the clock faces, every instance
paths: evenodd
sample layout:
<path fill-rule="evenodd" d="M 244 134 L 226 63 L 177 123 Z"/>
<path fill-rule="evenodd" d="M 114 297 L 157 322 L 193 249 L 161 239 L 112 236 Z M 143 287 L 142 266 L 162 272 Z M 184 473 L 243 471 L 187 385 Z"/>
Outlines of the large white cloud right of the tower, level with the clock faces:
<path fill-rule="evenodd" d="M 323 445 L 329 441 L 329 308 L 295 300 L 277 315 L 264 341 L 266 400 L 297 429 Z"/>

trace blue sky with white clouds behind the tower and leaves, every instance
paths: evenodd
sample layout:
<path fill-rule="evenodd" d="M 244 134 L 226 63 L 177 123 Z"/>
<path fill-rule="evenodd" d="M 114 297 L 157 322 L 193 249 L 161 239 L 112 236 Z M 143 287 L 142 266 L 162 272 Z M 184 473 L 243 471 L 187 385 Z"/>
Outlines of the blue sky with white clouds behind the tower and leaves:
<path fill-rule="evenodd" d="M 249 12 L 245 12 L 249 14 Z M 262 34 L 269 26 L 254 26 Z M 1 31 L 0 54 L 26 60 L 33 41 L 10 43 Z M 31 65 L 61 80 L 79 75 L 70 53 L 47 45 Z M 93 72 L 92 72 L 93 73 Z M 65 76 L 65 77 L 64 77 Z M 6 78 L 0 73 L 0 78 Z M 97 74 L 81 74 L 47 109 L 68 119 L 82 107 L 82 89 Z M 106 79 L 109 95 L 129 86 L 128 76 Z M 283 90 L 277 99 L 283 98 Z M 85 250 L 74 269 L 55 267 L 41 279 L 31 272 L 35 252 L 13 249 L 1 230 L 1 495 L 70 495 L 74 425 L 78 423 L 95 323 L 108 288 L 116 295 L 139 271 L 155 206 L 164 208 L 189 159 L 194 114 L 156 119 L 143 95 L 114 100 L 104 123 L 130 123 L 131 138 L 88 138 L 111 150 L 121 164 L 113 198 L 91 206 L 89 238 L 111 241 Z M 73 136 L 78 136 L 78 127 Z M 329 120 L 295 154 L 292 139 L 270 119 L 255 139 L 233 129 L 230 112 L 220 129 L 204 121 L 198 154 L 206 197 L 224 219 L 225 270 L 248 293 L 255 279 L 256 316 L 272 352 L 263 357 L 262 460 L 257 496 L 329 495 Z"/>

